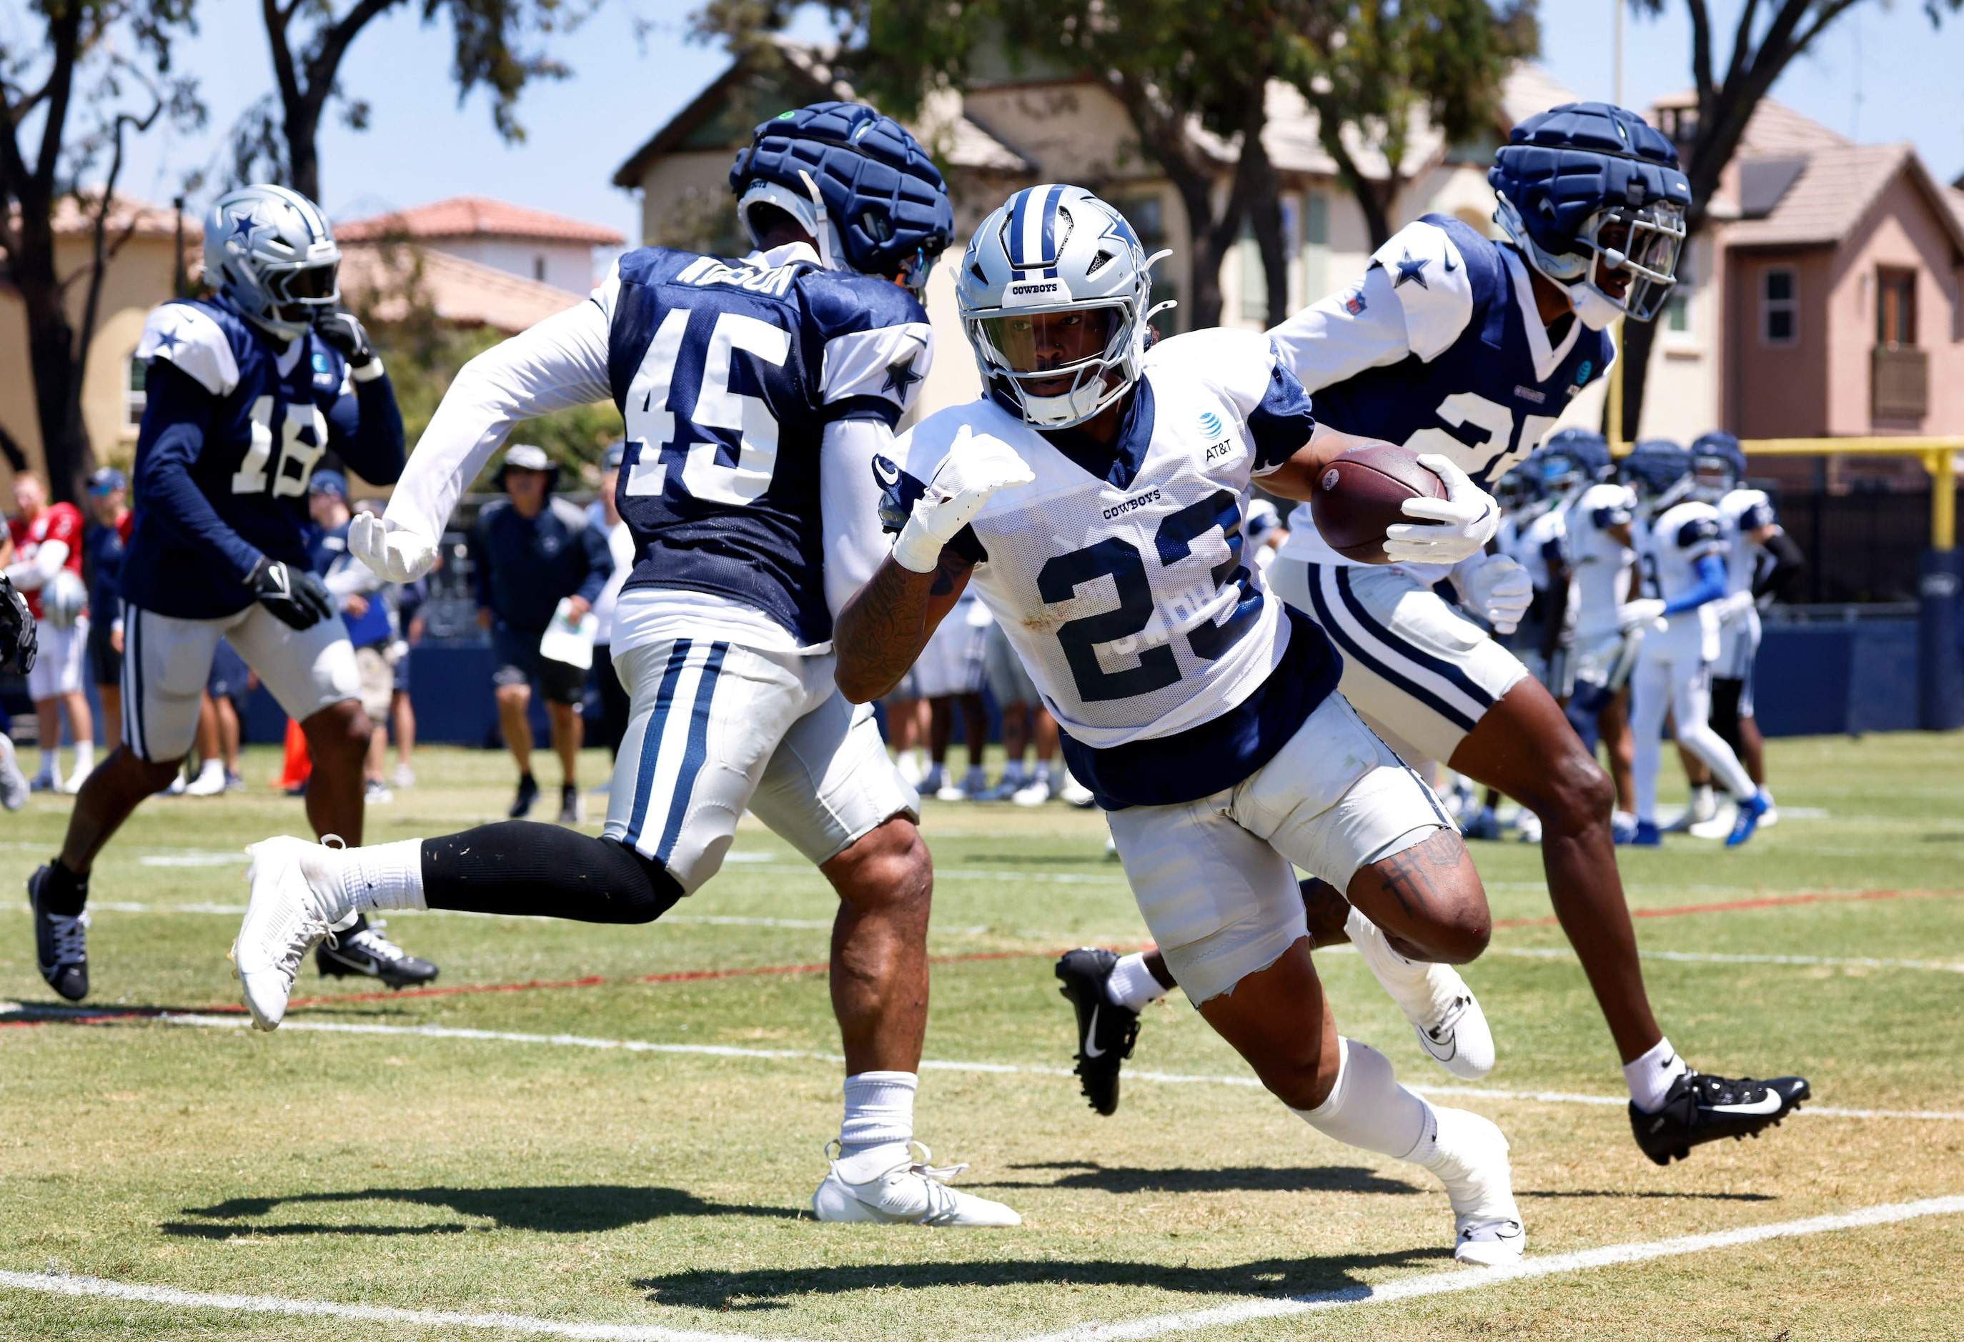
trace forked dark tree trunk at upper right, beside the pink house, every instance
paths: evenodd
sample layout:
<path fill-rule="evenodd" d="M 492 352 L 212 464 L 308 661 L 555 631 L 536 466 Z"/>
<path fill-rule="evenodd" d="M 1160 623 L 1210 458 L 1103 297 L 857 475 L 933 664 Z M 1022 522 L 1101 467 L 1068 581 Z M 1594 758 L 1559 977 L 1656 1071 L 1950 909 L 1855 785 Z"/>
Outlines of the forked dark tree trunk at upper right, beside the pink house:
<path fill-rule="evenodd" d="M 1671 0 L 1630 0 L 1640 14 L 1664 14 L 1667 4 Z M 1732 26 L 1732 53 L 1722 69 L 1715 53 L 1724 35 L 1715 31 L 1711 0 L 1683 0 L 1683 4 L 1691 16 L 1691 83 L 1699 106 L 1697 120 L 1679 128 L 1679 153 L 1685 155 L 1685 177 L 1691 179 L 1691 214 L 1685 222 L 1687 230 L 1697 234 L 1709 222 L 1718 179 L 1738 153 L 1746 124 L 1760 108 L 1760 100 L 1797 57 L 1815 47 L 1834 20 L 1864 0 L 1744 0 Z M 1931 28 L 1942 22 L 1944 12 L 1956 14 L 1958 8 L 1964 8 L 1964 0 L 1923 0 Z M 1622 383 L 1624 438 L 1636 438 L 1644 413 L 1650 348 L 1656 338 L 1656 322 L 1624 322 L 1628 360 Z"/>

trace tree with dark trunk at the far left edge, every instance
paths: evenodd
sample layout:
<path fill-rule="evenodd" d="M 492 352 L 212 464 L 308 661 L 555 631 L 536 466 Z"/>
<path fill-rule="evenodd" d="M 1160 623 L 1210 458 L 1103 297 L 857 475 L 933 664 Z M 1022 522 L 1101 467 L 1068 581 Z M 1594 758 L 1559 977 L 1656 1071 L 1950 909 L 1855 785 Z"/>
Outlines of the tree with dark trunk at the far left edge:
<path fill-rule="evenodd" d="M 171 43 L 194 31 L 191 0 L 31 0 L 33 41 L 0 39 L 0 252 L 27 312 L 35 419 L 49 489 L 79 499 L 94 466 L 82 424 L 82 373 L 102 277 L 136 232 L 116 220 L 124 140 L 159 118 L 202 124 L 196 84 L 171 73 Z M 104 173 L 98 187 L 81 181 Z M 55 212 L 71 198 L 92 224 L 90 259 L 61 275 Z M 112 220 L 116 220 L 112 224 Z M 69 291 L 84 283 L 81 322 Z"/>

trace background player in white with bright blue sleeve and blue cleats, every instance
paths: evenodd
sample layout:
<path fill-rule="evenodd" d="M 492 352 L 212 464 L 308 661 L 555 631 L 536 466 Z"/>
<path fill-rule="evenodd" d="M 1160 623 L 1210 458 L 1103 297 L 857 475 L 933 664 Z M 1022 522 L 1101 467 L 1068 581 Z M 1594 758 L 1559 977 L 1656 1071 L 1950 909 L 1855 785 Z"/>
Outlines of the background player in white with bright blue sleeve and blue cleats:
<path fill-rule="evenodd" d="M 1630 688 L 1636 733 L 1634 843 L 1644 847 L 1662 843 L 1658 768 L 1664 758 L 1664 717 L 1669 713 L 1677 745 L 1711 768 L 1726 792 L 1738 798 L 1738 817 L 1726 837 L 1726 845 L 1736 847 L 1752 837 L 1770 800 L 1746 776 L 1732 747 L 1711 727 L 1711 674 L 1713 662 L 1718 660 L 1718 627 L 1728 607 L 1736 605 L 1726 595 L 1724 519 L 1713 503 L 1695 497 L 1695 483 L 1685 489 L 1693 479 L 1689 452 L 1677 456 L 1675 468 L 1665 464 L 1664 452 L 1654 456 L 1664 470 L 1640 475 L 1650 487 L 1662 485 L 1642 550 L 1646 595 L 1626 601 L 1618 615 L 1626 631 L 1644 631 Z M 1677 479 L 1669 479 L 1671 470 L 1681 472 Z M 1746 593 L 1744 601 L 1750 605 L 1752 593 Z"/>

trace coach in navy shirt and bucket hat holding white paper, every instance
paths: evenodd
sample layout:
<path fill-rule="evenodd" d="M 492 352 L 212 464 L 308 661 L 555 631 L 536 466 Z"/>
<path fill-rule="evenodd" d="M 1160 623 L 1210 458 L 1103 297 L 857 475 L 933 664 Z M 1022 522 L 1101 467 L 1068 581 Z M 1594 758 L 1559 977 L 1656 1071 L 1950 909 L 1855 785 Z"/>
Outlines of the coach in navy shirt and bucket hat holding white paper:
<path fill-rule="evenodd" d="M 477 623 L 491 631 L 497 715 L 505 745 L 518 760 L 518 796 L 513 819 L 528 813 L 538 800 L 532 778 L 532 682 L 546 696 L 552 721 L 552 749 L 560 756 L 560 823 L 579 823 L 579 699 L 587 672 L 538 654 L 538 643 L 560 601 L 572 601 L 579 621 L 613 572 L 607 536 L 587 525 L 587 515 L 552 497 L 560 468 L 542 448 L 513 446 L 499 468 L 501 499 L 477 515 L 471 529 L 471 564 L 477 574 Z"/>

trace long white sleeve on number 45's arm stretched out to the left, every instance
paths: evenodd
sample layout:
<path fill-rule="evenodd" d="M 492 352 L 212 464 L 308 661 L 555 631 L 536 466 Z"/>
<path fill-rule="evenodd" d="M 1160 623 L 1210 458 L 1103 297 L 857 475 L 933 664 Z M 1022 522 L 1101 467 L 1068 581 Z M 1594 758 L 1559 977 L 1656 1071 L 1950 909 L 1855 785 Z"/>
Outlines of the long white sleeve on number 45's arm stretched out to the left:
<path fill-rule="evenodd" d="M 593 295 L 485 350 L 464 365 L 409 456 L 385 517 L 422 536 L 444 534 L 464 487 L 528 419 L 611 401 L 607 332 L 621 287 L 615 269 Z"/>

